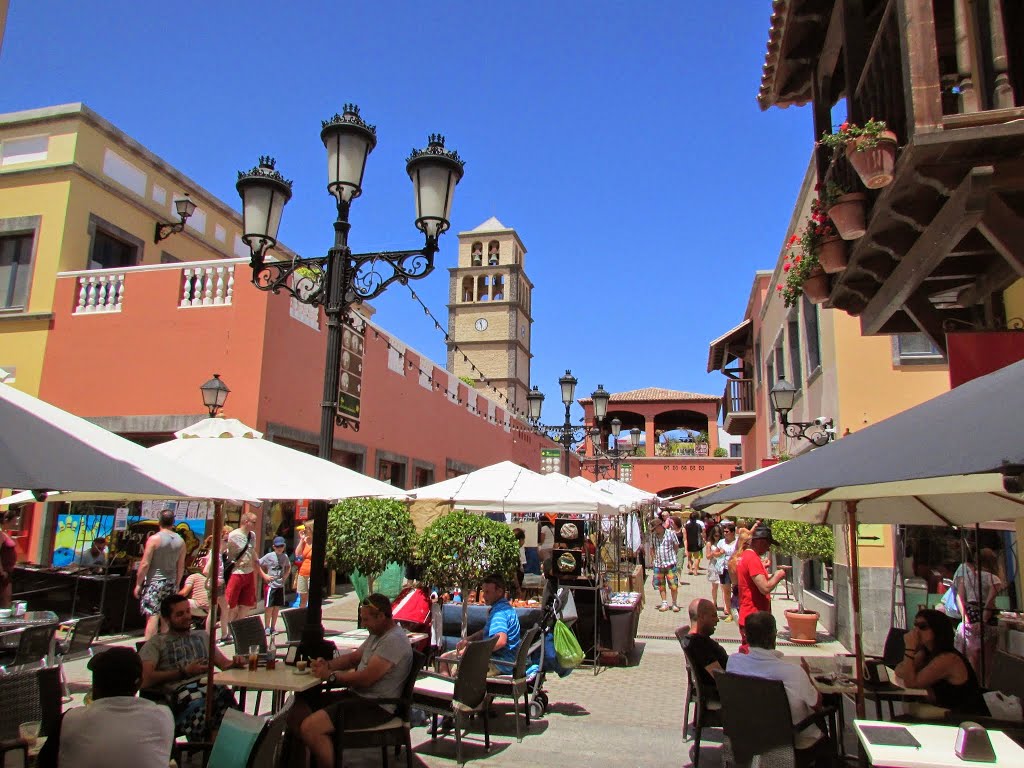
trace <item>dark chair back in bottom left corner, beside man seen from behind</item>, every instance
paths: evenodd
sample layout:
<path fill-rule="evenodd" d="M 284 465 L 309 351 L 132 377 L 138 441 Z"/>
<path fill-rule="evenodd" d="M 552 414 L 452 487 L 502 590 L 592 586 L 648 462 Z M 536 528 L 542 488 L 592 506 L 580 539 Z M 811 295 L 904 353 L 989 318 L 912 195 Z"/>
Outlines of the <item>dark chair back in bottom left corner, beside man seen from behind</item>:
<path fill-rule="evenodd" d="M 7 764 L 8 752 L 20 752 L 22 765 L 29 765 L 29 750 L 18 734 L 22 723 L 38 720 L 42 736 L 57 732 L 60 690 L 60 670 L 56 667 L 0 675 L 0 765 Z"/>

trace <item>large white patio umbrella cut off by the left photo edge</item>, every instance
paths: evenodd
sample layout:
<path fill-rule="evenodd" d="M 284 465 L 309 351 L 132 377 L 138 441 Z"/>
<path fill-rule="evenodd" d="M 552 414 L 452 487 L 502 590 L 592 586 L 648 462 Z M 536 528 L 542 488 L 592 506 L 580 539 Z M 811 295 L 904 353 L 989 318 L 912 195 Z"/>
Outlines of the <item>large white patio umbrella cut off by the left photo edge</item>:
<path fill-rule="evenodd" d="M 0 385 L 0 487 L 24 501 L 234 499 L 245 486 L 157 456 L 78 416 Z M 11 503 L 10 499 L 3 500 Z"/>

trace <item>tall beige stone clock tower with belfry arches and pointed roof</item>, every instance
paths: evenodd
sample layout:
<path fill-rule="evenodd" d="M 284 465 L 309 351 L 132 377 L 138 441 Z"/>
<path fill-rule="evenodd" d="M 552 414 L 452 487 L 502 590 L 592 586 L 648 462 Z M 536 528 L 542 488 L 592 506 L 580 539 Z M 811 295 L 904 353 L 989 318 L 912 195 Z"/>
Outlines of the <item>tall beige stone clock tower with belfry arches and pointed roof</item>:
<path fill-rule="evenodd" d="M 515 229 L 492 216 L 475 229 L 459 232 L 459 264 L 449 269 L 449 372 L 493 394 L 486 379 L 508 398 L 511 411 L 523 414 L 534 356 L 534 284 L 523 270 L 525 255 Z"/>

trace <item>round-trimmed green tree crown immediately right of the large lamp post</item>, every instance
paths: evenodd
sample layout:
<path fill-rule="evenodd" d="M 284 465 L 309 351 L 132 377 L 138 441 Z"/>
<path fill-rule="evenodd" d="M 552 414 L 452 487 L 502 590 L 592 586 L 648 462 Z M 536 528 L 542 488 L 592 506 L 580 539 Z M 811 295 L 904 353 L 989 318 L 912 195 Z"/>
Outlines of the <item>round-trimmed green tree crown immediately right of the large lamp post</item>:
<path fill-rule="evenodd" d="M 412 559 L 415 544 L 409 509 L 394 499 L 345 499 L 328 513 L 328 565 L 358 570 L 371 592 L 389 563 Z"/>

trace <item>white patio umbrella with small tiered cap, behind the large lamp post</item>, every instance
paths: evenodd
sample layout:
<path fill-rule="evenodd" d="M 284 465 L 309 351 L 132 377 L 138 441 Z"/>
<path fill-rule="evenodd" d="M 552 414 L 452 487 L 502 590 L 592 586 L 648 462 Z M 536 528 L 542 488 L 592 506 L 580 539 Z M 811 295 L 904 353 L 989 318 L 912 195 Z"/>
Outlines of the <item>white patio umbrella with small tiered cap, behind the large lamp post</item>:
<path fill-rule="evenodd" d="M 150 449 L 247 488 L 257 499 L 350 499 L 394 496 L 386 482 L 263 439 L 238 419 L 204 419 Z"/>

